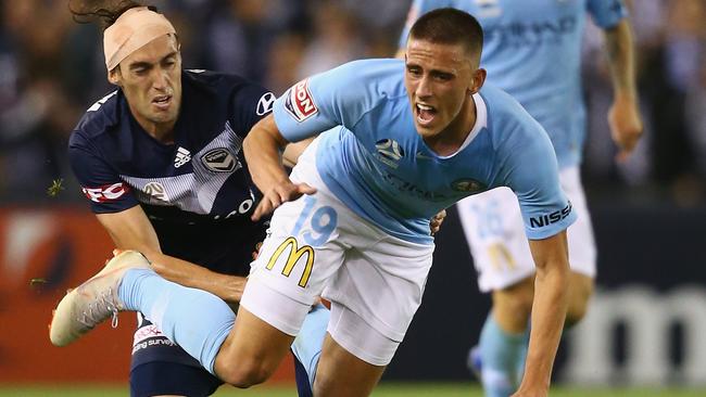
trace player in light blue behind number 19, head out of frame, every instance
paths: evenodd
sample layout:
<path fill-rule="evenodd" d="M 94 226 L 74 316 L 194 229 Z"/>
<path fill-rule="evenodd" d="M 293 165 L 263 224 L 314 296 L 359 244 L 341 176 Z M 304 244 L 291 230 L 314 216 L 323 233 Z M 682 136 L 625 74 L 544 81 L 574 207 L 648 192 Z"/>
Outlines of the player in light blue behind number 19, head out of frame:
<path fill-rule="evenodd" d="M 593 230 L 579 176 L 585 129 L 581 39 L 590 14 L 605 29 L 615 88 L 608 119 L 625 156 L 642 132 L 626 9 L 619 0 L 415 0 L 400 39 L 401 52 L 417 17 L 444 7 L 478 18 L 486 35 L 480 63 L 488 69 L 488 81 L 516 98 L 552 140 L 562 188 L 579 215 L 568 229 L 571 278 L 567 323 L 576 323 L 585 313 L 596 267 Z M 492 291 L 493 300 L 469 363 L 482 363 L 479 372 L 488 396 L 508 396 L 525 363 L 534 291 L 534 266 L 521 232 L 520 207 L 512 191 L 497 189 L 464 200 L 457 208 L 479 287 Z"/>

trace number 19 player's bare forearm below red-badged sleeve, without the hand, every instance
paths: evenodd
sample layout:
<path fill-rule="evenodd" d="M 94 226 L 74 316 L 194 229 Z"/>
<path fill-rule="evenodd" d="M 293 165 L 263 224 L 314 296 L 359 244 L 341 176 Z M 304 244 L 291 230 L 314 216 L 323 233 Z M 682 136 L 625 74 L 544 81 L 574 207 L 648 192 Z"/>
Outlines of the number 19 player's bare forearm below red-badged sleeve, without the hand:
<path fill-rule="evenodd" d="M 270 187 L 289 178 L 280 154 L 287 141 L 279 140 L 276 136 L 279 136 L 279 132 L 276 131 L 275 123 L 267 117 L 255 125 L 243 142 L 250 175 L 261 192 L 266 192 Z"/>

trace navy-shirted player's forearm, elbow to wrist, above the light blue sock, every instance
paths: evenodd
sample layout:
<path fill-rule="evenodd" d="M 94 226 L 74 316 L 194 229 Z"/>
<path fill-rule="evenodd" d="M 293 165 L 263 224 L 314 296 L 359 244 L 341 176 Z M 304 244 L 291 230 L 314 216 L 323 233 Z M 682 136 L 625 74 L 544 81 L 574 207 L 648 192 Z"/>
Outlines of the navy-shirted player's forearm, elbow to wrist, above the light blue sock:
<path fill-rule="evenodd" d="M 247 281 L 243 277 L 216 273 L 202 266 L 160 253 L 146 255 L 154 270 L 172 282 L 207 291 L 228 303 L 240 302 Z"/>

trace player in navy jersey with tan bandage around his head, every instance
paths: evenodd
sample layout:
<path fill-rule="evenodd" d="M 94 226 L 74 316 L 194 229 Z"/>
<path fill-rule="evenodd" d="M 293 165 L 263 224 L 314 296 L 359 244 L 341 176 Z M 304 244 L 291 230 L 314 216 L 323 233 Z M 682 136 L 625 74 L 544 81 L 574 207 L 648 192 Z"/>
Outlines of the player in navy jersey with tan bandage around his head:
<path fill-rule="evenodd" d="M 141 252 L 167 280 L 237 305 L 268 223 L 250 219 L 260 193 L 240 152 L 275 95 L 237 76 L 184 71 L 176 31 L 154 9 L 71 5 L 76 17 L 102 23 L 108 78 L 118 87 L 88 110 L 70 140 L 91 209 L 116 247 Z M 287 156 L 295 161 L 297 151 L 290 146 Z M 138 316 L 133 396 L 205 396 L 222 383 Z"/>

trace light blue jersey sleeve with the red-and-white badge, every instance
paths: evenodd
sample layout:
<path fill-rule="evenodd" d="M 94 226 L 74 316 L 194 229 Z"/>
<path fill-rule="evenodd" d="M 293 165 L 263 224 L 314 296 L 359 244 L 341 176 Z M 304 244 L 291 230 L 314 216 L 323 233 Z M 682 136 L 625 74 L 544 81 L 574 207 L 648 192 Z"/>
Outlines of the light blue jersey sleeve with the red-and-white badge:
<path fill-rule="evenodd" d="M 365 61 L 351 62 L 287 90 L 273 108 L 282 137 L 297 142 L 336 126 L 353 130 L 374 102 L 365 69 Z"/>

